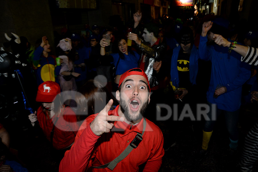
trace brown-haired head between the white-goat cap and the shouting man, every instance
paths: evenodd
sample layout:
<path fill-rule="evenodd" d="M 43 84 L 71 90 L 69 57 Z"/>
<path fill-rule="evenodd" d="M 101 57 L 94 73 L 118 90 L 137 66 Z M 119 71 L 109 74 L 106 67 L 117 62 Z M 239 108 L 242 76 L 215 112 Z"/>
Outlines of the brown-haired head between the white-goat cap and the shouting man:
<path fill-rule="evenodd" d="M 114 100 L 113 110 L 118 105 L 116 99 L 98 81 L 87 81 L 75 94 L 78 121 L 83 122 L 87 116 L 100 112 L 110 99 Z"/>

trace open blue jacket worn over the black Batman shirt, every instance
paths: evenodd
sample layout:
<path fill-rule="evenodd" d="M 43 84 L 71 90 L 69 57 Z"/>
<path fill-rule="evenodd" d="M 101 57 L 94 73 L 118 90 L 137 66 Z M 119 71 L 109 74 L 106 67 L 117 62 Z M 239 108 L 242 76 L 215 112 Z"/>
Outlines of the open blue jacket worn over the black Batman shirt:
<path fill-rule="evenodd" d="M 171 70 L 170 70 L 170 75 L 171 75 L 171 81 L 172 84 L 175 87 L 179 86 L 179 76 L 178 76 L 178 71 L 177 71 L 177 58 L 179 51 L 181 49 L 181 46 L 178 46 L 173 49 L 173 55 L 171 58 Z M 189 58 L 189 75 L 190 75 L 190 82 L 194 85 L 196 84 L 196 76 L 198 73 L 198 58 L 199 58 L 199 51 L 198 48 L 193 45 L 191 49 L 191 54 Z"/>

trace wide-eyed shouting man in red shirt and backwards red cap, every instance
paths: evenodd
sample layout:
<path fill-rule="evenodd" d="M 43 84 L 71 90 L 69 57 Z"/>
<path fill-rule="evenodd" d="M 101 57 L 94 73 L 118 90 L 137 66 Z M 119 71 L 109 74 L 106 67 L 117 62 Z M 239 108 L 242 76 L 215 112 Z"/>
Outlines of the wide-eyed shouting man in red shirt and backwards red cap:
<path fill-rule="evenodd" d="M 60 172 L 111 171 L 112 167 L 102 165 L 116 159 L 127 147 L 134 148 L 115 163 L 113 171 L 139 171 L 139 166 L 144 163 L 143 171 L 159 170 L 164 155 L 163 134 L 158 126 L 143 117 L 150 102 L 147 75 L 139 68 L 122 74 L 116 99 L 120 105 L 115 110 L 110 110 L 113 104 L 110 99 L 99 114 L 85 119 L 75 144 L 60 162 Z M 133 140 L 137 140 L 139 134 L 142 134 L 142 140 L 135 148 L 137 143 Z"/>

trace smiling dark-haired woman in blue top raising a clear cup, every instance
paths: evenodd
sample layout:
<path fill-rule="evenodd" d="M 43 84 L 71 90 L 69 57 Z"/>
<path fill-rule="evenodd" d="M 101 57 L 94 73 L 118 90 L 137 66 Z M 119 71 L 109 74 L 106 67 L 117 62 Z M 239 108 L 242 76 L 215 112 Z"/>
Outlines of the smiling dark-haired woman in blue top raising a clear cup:
<path fill-rule="evenodd" d="M 105 42 L 105 38 L 102 38 L 100 41 L 100 54 L 105 56 L 105 46 L 107 46 L 107 42 Z M 114 50 L 115 53 L 111 54 L 108 57 L 103 58 L 102 62 L 110 62 L 114 64 L 116 70 L 116 77 L 114 79 L 114 84 L 116 85 L 116 90 L 118 88 L 118 83 L 120 76 L 130 70 L 138 67 L 138 61 L 140 59 L 140 55 L 137 52 L 132 51 L 131 48 L 127 46 L 127 38 L 119 37 L 116 38 L 114 42 Z"/>

